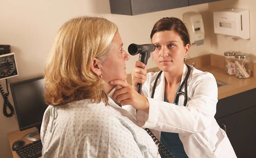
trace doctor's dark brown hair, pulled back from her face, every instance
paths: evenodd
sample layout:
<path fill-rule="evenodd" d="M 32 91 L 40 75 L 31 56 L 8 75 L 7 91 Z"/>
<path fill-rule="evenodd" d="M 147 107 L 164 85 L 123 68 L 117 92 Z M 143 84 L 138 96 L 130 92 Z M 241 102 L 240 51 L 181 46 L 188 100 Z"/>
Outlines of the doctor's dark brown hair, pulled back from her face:
<path fill-rule="evenodd" d="M 166 17 L 158 20 L 156 24 L 153 26 L 153 29 L 150 34 L 150 39 L 152 40 L 153 35 L 156 32 L 160 31 L 174 31 L 180 36 L 184 46 L 186 46 L 187 44 L 190 45 L 188 30 L 184 23 L 179 18 Z"/>

